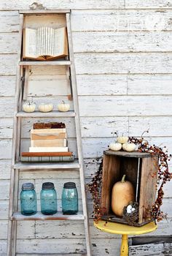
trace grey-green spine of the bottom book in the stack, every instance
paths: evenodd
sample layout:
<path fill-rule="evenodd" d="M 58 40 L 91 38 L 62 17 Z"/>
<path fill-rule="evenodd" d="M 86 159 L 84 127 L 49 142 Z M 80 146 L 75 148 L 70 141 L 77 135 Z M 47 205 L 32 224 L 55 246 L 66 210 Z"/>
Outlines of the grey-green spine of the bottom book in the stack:
<path fill-rule="evenodd" d="M 20 157 L 21 162 L 73 162 L 71 157 Z"/>

